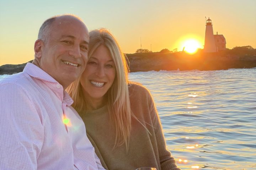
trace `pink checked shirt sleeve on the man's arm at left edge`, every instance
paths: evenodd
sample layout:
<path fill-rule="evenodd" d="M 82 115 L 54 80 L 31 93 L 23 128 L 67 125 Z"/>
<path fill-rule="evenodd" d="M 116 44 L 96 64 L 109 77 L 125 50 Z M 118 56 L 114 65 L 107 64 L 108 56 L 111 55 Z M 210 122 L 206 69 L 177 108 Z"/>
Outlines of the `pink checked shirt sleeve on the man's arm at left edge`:
<path fill-rule="evenodd" d="M 0 169 L 37 169 L 43 125 L 36 106 L 18 85 L 1 85 L 0 94 Z"/>

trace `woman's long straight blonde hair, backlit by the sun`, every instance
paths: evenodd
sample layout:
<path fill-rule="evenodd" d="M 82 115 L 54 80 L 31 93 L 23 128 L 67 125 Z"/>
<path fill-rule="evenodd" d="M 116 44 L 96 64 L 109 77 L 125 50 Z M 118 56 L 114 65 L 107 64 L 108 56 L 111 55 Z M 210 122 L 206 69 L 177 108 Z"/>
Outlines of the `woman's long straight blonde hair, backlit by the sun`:
<path fill-rule="evenodd" d="M 112 86 L 106 93 L 107 108 L 110 115 L 111 124 L 116 131 L 114 147 L 124 144 L 128 150 L 131 117 L 135 118 L 135 116 L 132 114 L 130 108 L 128 92 L 128 85 L 130 82 L 128 80 L 128 66 L 126 58 L 122 53 L 118 42 L 107 29 L 101 28 L 98 30 L 92 30 L 90 31 L 89 35 L 90 42 L 88 59 L 100 45 L 104 45 L 110 51 L 111 57 L 114 61 L 116 67 L 116 76 Z M 72 106 L 76 109 L 76 111 L 81 112 L 86 109 L 80 78 L 68 86 L 66 91 L 73 98 L 74 103 Z"/>

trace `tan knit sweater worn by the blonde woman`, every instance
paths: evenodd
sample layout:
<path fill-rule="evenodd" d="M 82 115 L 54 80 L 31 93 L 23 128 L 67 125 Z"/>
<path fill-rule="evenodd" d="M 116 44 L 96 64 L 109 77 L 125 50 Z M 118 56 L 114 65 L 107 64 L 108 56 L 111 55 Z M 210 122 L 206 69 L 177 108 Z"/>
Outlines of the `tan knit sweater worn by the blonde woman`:
<path fill-rule="evenodd" d="M 150 92 L 142 85 L 129 86 L 132 112 L 148 128 L 132 119 L 129 150 L 124 145 L 113 149 L 115 130 L 110 124 L 107 107 L 80 113 L 84 115 L 86 132 L 104 168 L 108 170 L 135 170 L 153 167 L 157 170 L 180 170 L 175 159 L 166 150 L 162 127 Z"/>

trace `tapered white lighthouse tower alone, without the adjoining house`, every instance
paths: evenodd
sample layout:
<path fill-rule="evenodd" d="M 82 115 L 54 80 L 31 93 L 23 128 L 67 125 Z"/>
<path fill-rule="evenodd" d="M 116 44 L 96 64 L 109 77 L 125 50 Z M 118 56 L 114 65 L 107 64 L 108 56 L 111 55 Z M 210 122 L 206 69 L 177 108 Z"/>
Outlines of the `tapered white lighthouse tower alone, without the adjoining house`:
<path fill-rule="evenodd" d="M 216 52 L 212 20 L 210 18 L 208 18 L 206 21 L 206 34 L 204 37 L 204 52 Z"/>

